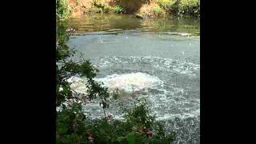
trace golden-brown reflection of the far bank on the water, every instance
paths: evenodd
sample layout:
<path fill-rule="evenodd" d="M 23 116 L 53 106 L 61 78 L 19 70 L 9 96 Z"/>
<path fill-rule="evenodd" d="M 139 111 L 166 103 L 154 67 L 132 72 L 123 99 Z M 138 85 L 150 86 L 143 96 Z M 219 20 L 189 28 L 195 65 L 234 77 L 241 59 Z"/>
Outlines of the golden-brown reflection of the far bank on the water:
<path fill-rule="evenodd" d="M 200 34 L 200 22 L 198 18 L 158 18 L 139 19 L 134 15 L 121 14 L 89 14 L 81 18 L 72 18 L 70 27 L 79 32 L 120 30 L 142 31 L 170 31 L 185 32 L 193 35 Z"/>

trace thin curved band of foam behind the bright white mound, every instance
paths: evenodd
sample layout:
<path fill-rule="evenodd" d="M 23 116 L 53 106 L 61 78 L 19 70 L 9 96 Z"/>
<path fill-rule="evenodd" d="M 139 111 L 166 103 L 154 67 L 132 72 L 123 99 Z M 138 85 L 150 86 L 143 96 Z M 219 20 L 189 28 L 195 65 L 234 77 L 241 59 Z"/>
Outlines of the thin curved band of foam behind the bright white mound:
<path fill-rule="evenodd" d="M 104 57 L 92 58 L 92 61 L 99 68 L 109 68 L 117 65 L 151 66 L 157 70 L 165 70 L 170 73 L 185 74 L 196 77 L 200 71 L 200 65 L 172 58 L 160 58 L 152 56 L 144 57 Z"/>

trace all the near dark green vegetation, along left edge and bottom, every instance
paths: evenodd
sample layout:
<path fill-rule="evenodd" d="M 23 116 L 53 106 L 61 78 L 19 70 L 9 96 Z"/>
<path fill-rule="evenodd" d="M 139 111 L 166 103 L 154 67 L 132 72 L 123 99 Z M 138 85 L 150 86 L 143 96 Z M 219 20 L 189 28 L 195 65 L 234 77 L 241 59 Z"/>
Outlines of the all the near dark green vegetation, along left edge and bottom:
<path fill-rule="evenodd" d="M 137 100 L 133 108 L 122 107 L 125 120 L 114 120 L 105 110 L 110 100 L 118 98 L 118 91 L 111 92 L 94 78 L 98 70 L 90 61 L 81 57 L 72 59 L 75 51 L 66 45 L 69 33 L 66 20 L 70 7 L 66 0 L 57 0 L 56 25 L 56 142 L 63 143 L 170 143 L 174 133 L 166 133 L 165 123 L 156 122 L 146 101 Z M 69 78 L 86 78 L 86 94 L 77 94 L 70 88 Z M 91 119 L 82 112 L 82 106 L 98 98 L 104 117 Z"/>

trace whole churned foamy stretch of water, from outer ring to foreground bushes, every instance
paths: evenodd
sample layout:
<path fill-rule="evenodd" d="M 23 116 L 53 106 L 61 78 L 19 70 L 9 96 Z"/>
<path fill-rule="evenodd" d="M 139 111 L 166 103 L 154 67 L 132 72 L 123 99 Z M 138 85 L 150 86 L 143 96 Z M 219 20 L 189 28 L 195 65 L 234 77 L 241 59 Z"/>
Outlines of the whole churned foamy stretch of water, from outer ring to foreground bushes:
<path fill-rule="evenodd" d="M 126 93 L 138 91 L 136 97 L 146 98 L 158 121 L 168 123 L 170 130 L 177 132 L 174 143 L 197 143 L 200 131 L 199 78 L 200 65 L 171 58 L 158 57 L 104 57 L 93 58 L 100 73 L 95 78 L 110 90 L 118 88 Z M 71 88 L 86 93 L 86 79 L 72 77 Z M 142 93 L 140 93 L 142 92 Z M 130 106 L 133 98 L 120 98 L 110 104 L 106 114 L 114 119 L 123 119 L 118 102 Z M 91 118 L 104 116 L 102 107 L 94 100 L 83 107 Z M 91 111 L 94 111 L 91 113 Z"/>

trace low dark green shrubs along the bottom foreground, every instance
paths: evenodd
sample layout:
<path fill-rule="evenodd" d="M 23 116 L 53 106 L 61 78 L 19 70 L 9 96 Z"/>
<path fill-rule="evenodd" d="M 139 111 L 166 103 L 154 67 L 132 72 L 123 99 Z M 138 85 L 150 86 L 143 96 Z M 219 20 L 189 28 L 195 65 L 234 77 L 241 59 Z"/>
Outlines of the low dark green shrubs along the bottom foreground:
<path fill-rule="evenodd" d="M 125 120 L 110 116 L 90 119 L 82 113 L 82 105 L 63 106 L 57 116 L 57 143 L 170 143 L 173 132 L 166 133 L 165 123 L 156 122 L 146 102 L 124 109 Z"/>

